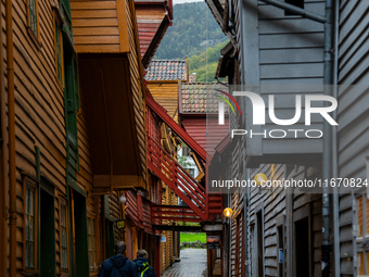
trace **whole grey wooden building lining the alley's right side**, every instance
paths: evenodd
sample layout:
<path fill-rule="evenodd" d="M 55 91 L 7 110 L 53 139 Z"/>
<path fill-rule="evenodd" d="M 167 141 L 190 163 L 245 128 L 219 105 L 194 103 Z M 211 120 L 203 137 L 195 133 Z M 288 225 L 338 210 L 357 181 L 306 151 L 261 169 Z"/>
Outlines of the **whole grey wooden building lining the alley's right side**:
<path fill-rule="evenodd" d="M 329 176 L 335 184 L 336 178 L 347 184 L 354 178 L 356 184 L 341 182 L 340 188 L 330 188 L 328 197 L 321 188 L 315 193 L 305 188 L 242 188 L 225 196 L 234 214 L 225 219 L 230 236 L 224 237 L 224 276 L 369 275 L 365 186 L 369 176 L 369 1 L 206 2 L 230 39 L 219 53 L 216 73 L 216 77 L 228 76 L 230 91 L 232 86 L 233 90 L 254 89 L 266 103 L 268 95 L 275 95 L 276 116 L 284 119 L 296 112 L 296 95 L 329 92 L 339 103 L 330 113 L 339 125 L 329 126 L 331 138 L 326 142 L 291 134 L 280 140 L 229 139 L 215 154 L 227 163 L 221 178 L 253 179 L 264 173 L 268 180 Z M 230 114 L 230 129 L 269 134 L 276 128 L 268 116 L 264 126 L 253 125 L 252 102 L 244 97 L 237 101 L 245 112 Z M 327 130 L 321 116 L 311 116 L 311 125 L 306 126 L 304 111 L 303 102 L 303 115 L 294 128 Z"/>

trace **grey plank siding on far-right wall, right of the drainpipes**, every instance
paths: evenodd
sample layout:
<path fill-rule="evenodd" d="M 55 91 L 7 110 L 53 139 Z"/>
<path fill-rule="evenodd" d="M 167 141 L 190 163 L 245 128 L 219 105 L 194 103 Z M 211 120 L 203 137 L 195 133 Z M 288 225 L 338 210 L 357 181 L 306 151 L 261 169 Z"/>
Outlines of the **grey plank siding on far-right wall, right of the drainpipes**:
<path fill-rule="evenodd" d="M 340 1 L 339 35 L 339 171 L 342 178 L 368 178 L 369 155 L 369 2 Z M 345 86 L 354 85 L 354 86 Z M 358 274 L 355 193 L 365 188 L 340 188 L 341 276 Z"/>

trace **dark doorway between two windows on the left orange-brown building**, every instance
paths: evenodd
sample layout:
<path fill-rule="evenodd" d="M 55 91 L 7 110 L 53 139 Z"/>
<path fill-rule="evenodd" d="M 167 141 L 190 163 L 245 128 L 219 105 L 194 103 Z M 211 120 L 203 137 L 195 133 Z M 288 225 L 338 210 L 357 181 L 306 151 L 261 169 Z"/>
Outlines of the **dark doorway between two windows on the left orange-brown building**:
<path fill-rule="evenodd" d="M 40 200 L 40 276 L 55 276 L 54 197 L 41 189 Z"/>

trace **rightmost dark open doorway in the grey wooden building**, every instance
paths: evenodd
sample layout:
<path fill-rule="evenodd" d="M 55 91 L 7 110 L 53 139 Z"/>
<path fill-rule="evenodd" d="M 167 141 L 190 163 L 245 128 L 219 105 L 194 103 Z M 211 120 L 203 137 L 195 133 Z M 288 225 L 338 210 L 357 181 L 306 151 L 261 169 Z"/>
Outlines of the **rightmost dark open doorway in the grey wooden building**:
<path fill-rule="evenodd" d="M 295 222 L 296 276 L 309 277 L 309 224 L 308 217 Z"/>

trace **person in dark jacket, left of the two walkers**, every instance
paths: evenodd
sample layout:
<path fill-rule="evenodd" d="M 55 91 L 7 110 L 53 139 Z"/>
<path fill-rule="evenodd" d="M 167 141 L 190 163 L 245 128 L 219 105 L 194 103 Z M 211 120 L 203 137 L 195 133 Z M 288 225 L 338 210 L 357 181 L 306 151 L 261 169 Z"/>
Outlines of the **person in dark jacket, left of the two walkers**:
<path fill-rule="evenodd" d="M 137 277 L 137 267 L 126 257 L 126 242 L 117 241 L 115 255 L 102 263 L 98 277 Z"/>

